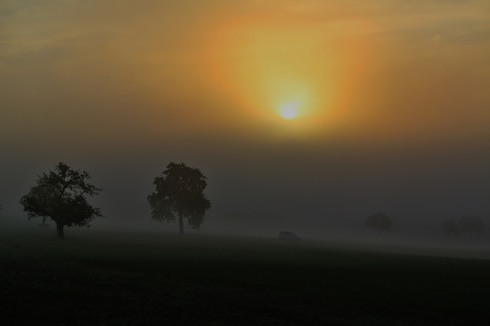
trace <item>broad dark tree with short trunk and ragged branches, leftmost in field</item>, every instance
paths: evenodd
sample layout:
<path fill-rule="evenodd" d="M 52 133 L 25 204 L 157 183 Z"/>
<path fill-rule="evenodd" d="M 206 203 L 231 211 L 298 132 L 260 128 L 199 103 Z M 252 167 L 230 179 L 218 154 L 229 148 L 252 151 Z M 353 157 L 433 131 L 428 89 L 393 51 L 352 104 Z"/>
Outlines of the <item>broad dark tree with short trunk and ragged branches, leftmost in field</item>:
<path fill-rule="evenodd" d="M 98 195 L 102 189 L 85 183 L 88 172 L 74 171 L 63 162 L 55 165 L 49 174 L 38 175 L 37 186 L 22 196 L 20 203 L 29 219 L 49 217 L 56 223 L 58 238 L 64 237 L 63 227 L 90 226 L 94 217 L 103 217 L 100 208 L 93 207 L 86 196 Z"/>

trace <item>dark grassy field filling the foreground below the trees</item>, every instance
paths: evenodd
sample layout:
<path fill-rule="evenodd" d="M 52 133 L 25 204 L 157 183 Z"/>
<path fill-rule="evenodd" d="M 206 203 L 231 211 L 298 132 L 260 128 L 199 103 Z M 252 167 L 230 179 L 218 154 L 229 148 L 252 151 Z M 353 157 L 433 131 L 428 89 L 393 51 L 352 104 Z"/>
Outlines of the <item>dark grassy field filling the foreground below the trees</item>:
<path fill-rule="evenodd" d="M 0 238 L 3 325 L 490 325 L 490 261 L 315 242 Z"/>

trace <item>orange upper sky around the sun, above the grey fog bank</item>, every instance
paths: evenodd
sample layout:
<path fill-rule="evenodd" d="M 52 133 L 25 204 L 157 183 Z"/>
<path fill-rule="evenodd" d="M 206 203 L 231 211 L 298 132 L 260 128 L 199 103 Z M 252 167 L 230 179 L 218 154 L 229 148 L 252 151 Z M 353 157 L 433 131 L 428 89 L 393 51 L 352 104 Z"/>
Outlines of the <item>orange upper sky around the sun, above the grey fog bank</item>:
<path fill-rule="evenodd" d="M 7 1 L 2 133 L 488 138 L 489 13 L 488 1 Z"/>

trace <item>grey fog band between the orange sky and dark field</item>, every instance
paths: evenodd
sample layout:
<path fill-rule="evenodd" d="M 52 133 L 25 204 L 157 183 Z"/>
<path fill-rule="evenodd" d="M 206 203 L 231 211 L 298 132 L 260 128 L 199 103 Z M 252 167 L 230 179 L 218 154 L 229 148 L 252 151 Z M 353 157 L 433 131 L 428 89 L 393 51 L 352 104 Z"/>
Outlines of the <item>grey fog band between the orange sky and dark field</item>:
<path fill-rule="evenodd" d="M 107 217 L 97 218 L 90 230 L 176 233 L 178 223 L 151 220 L 146 199 L 154 191 L 154 177 L 172 160 L 200 168 L 208 177 L 205 193 L 212 208 L 200 231 L 186 227 L 186 233 L 270 238 L 290 230 L 310 240 L 488 249 L 490 160 L 488 150 L 482 151 L 488 147 L 439 146 L 422 152 L 284 144 L 250 149 L 237 143 L 233 148 L 198 143 L 170 150 L 162 145 L 152 152 L 128 148 L 131 154 L 98 153 L 97 159 L 83 152 L 4 158 L 1 223 L 27 227 L 20 197 L 37 174 L 54 168 L 50 157 L 63 156 L 74 168 L 90 171 L 90 182 L 104 189 L 90 202 Z M 364 219 L 375 212 L 392 219 L 391 230 L 366 227 Z M 444 218 L 463 215 L 484 217 L 483 234 L 442 232 Z"/>

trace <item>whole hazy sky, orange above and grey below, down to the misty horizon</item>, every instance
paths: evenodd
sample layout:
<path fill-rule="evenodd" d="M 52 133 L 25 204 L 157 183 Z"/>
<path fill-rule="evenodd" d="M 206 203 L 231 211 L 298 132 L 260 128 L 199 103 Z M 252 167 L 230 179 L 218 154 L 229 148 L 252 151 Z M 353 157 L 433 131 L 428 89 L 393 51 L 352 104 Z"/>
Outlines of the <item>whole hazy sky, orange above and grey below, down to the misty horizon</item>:
<path fill-rule="evenodd" d="M 489 1 L 5 0 L 0 16 L 3 214 L 64 161 L 103 212 L 149 220 L 153 178 L 183 161 L 216 212 L 490 216 Z"/>

